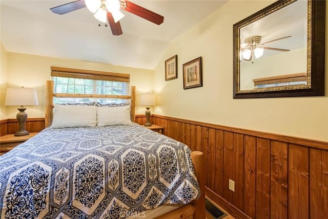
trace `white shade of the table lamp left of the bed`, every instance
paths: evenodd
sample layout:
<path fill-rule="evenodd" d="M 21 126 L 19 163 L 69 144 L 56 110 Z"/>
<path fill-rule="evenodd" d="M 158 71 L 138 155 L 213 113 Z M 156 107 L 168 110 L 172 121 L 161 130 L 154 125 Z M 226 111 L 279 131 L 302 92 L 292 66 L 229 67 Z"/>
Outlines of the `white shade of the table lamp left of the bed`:
<path fill-rule="evenodd" d="M 38 105 L 35 89 L 7 88 L 5 106 Z"/>

